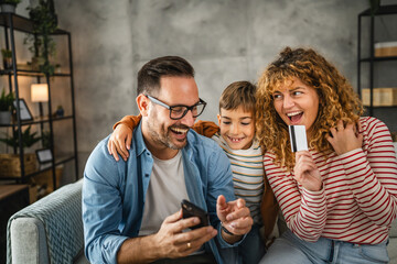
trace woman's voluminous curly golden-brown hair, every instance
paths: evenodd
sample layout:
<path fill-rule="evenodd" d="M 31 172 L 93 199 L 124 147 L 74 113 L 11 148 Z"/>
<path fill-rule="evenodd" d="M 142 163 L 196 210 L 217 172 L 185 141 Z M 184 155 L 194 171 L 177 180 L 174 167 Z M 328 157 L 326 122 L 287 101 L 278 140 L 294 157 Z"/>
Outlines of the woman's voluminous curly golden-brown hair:
<path fill-rule="evenodd" d="M 277 113 L 272 95 L 286 81 L 300 79 L 319 95 L 319 112 L 311 128 L 309 147 L 330 154 L 326 135 L 339 120 L 355 123 L 363 105 L 346 78 L 323 56 L 311 48 L 286 47 L 262 73 L 257 85 L 256 135 L 264 152 L 276 155 L 276 164 L 292 172 L 294 155 L 290 147 L 288 125 Z"/>

